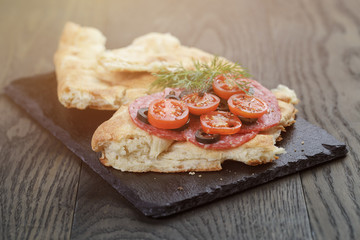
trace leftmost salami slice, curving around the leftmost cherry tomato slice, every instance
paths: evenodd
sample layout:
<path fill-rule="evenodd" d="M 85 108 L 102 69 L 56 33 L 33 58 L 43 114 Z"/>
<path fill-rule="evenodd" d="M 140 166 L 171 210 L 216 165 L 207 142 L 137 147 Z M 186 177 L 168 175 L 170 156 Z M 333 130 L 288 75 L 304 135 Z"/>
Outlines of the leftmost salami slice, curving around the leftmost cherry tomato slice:
<path fill-rule="evenodd" d="M 129 106 L 129 114 L 132 121 L 142 130 L 153 134 L 160 138 L 171 139 L 175 141 L 185 141 L 185 137 L 182 132 L 177 132 L 175 130 L 167 130 L 167 129 L 159 129 L 150 124 L 146 124 L 140 121 L 136 115 L 140 108 L 149 107 L 150 102 L 155 99 L 160 99 L 165 97 L 165 92 L 154 93 L 151 95 L 146 95 L 140 98 L 137 98 L 134 102 L 132 102 Z"/>

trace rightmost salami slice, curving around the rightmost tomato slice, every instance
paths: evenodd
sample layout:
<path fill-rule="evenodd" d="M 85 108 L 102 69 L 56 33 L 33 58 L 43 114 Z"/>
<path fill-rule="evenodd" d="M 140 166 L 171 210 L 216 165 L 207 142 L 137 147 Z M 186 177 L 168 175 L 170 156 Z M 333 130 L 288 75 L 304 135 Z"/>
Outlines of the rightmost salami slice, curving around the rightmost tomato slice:
<path fill-rule="evenodd" d="M 279 124 L 281 111 L 275 95 L 263 85 L 252 80 L 251 86 L 254 89 L 254 97 L 261 98 L 269 107 L 267 113 L 261 116 L 256 122 L 243 124 L 240 133 L 260 132 Z"/>

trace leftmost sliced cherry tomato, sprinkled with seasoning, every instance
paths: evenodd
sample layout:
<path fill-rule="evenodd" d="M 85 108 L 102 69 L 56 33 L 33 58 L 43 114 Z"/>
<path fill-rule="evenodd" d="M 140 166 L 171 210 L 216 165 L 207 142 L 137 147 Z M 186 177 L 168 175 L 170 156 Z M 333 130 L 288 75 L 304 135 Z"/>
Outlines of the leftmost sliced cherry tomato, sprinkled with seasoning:
<path fill-rule="evenodd" d="M 189 108 L 174 99 L 156 99 L 149 105 L 148 121 L 161 129 L 176 129 L 186 124 Z"/>

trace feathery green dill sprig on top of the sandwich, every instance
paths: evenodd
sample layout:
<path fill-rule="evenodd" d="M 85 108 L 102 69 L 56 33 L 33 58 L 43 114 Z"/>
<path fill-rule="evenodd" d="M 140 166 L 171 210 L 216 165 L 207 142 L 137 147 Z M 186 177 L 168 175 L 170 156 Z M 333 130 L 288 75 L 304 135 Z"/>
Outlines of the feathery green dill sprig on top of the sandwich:
<path fill-rule="evenodd" d="M 216 56 L 210 63 L 194 61 L 193 64 L 193 69 L 185 69 L 182 64 L 173 69 L 161 68 L 157 73 L 153 73 L 157 78 L 151 84 L 151 88 L 184 88 L 192 92 L 204 93 L 211 89 L 215 77 L 223 75 L 229 85 L 237 85 L 241 90 L 249 93 L 248 82 L 235 81 L 250 77 L 250 74 L 238 63 L 227 62 Z"/>

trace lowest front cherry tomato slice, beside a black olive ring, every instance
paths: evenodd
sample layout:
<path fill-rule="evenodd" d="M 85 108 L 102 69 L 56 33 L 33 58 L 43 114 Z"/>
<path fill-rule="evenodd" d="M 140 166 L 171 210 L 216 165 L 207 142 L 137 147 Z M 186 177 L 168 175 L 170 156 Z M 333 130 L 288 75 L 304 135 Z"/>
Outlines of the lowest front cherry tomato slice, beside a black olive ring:
<path fill-rule="evenodd" d="M 230 135 L 241 128 L 240 119 L 231 112 L 213 111 L 200 116 L 201 127 L 207 134 Z"/>

